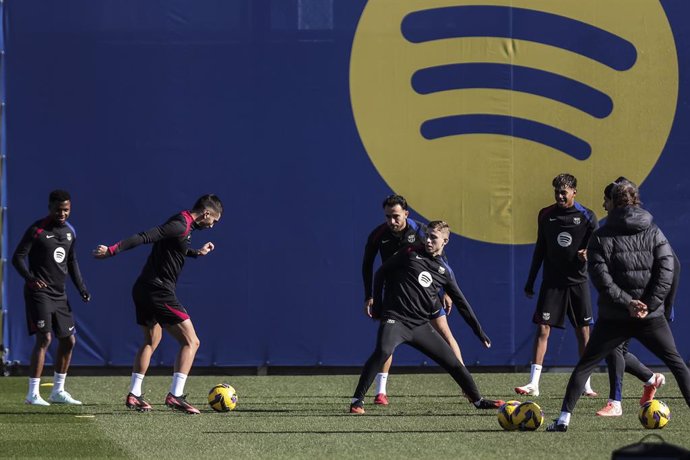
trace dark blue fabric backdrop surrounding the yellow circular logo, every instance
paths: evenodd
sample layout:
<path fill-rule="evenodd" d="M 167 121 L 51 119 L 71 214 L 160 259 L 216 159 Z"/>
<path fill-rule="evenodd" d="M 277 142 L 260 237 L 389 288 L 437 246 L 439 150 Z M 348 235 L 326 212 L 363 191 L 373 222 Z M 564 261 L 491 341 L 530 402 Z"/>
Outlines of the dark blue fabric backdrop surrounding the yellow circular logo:
<path fill-rule="evenodd" d="M 178 290 L 201 339 L 196 364 L 364 362 L 376 324 L 362 313 L 362 250 L 393 191 L 367 155 L 351 106 L 350 53 L 365 4 L 5 2 L 9 246 L 45 215 L 50 190 L 72 193 L 70 221 L 93 295 L 83 304 L 70 291 L 73 364 L 129 365 L 140 342 L 130 289 L 149 248 L 106 261 L 90 250 L 162 223 L 207 192 L 221 196 L 226 212 L 193 243 L 217 249 L 187 262 Z M 678 104 L 643 198 L 690 266 L 690 4 L 662 5 L 678 53 Z M 453 235 L 448 256 L 494 343 L 484 350 L 451 316 L 467 363 L 529 362 L 534 301 L 522 288 L 532 250 Z M 10 358 L 26 363 L 33 340 L 22 280 L 9 272 L 5 342 Z M 686 273 L 673 328 L 687 358 Z M 155 363 L 170 365 L 176 349 L 164 339 Z M 410 349 L 396 356 L 397 364 L 425 361 Z M 555 332 L 546 364 L 575 361 L 572 330 Z"/>

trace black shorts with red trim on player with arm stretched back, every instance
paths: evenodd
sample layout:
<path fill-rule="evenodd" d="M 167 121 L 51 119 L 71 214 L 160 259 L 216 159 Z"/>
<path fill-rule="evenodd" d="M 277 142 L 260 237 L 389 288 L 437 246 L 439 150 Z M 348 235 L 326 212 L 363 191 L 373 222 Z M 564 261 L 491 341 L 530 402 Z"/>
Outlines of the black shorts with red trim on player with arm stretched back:
<path fill-rule="evenodd" d="M 137 324 L 151 327 L 155 324 L 172 326 L 189 319 L 175 291 L 137 281 L 132 288 Z"/>

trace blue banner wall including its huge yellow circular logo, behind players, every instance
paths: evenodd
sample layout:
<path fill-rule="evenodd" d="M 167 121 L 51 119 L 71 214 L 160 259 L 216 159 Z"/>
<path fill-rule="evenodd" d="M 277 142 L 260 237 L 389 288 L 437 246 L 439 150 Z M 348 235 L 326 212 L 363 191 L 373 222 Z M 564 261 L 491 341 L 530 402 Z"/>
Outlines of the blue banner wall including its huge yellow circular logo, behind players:
<path fill-rule="evenodd" d="M 9 247 L 52 189 L 71 192 L 93 295 L 70 291 L 75 365 L 129 365 L 141 340 L 130 290 L 149 248 L 91 249 L 208 192 L 225 214 L 192 242 L 217 249 L 178 289 L 197 365 L 362 364 L 377 325 L 361 257 L 392 192 L 454 230 L 449 260 L 493 340 L 451 315 L 469 364 L 531 359 L 522 290 L 559 172 L 600 218 L 608 182 L 640 182 L 690 263 L 685 0 L 6 0 L 4 14 Z M 22 284 L 10 269 L 4 341 L 27 363 Z M 155 363 L 176 349 L 165 338 Z M 572 328 L 552 334 L 546 365 L 576 355 Z M 426 358 L 403 347 L 395 362 Z"/>

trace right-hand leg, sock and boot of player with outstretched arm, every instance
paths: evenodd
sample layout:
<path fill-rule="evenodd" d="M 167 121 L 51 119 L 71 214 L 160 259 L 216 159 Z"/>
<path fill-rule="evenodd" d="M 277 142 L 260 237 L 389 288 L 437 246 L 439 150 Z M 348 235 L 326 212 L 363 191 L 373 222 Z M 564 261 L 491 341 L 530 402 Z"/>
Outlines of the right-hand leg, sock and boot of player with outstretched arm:
<path fill-rule="evenodd" d="M 189 319 L 168 326 L 166 330 L 180 344 L 180 351 L 175 359 L 175 373 L 170 385 L 170 393 L 165 398 L 165 405 L 188 414 L 198 414 L 199 410 L 189 404 L 182 393 L 184 392 L 187 375 L 192 370 L 194 356 L 196 356 L 196 352 L 199 349 L 199 338 L 196 335 L 192 321 Z"/>

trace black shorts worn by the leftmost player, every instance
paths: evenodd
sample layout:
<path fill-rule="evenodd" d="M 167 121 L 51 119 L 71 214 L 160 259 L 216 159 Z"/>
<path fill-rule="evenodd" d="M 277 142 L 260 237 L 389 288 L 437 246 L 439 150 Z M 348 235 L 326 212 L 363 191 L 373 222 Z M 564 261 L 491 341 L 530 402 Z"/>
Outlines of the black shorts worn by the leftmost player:
<path fill-rule="evenodd" d="M 29 335 L 51 331 L 58 338 L 74 335 L 74 317 L 67 296 L 55 298 L 40 291 L 24 288 L 24 302 Z"/>

